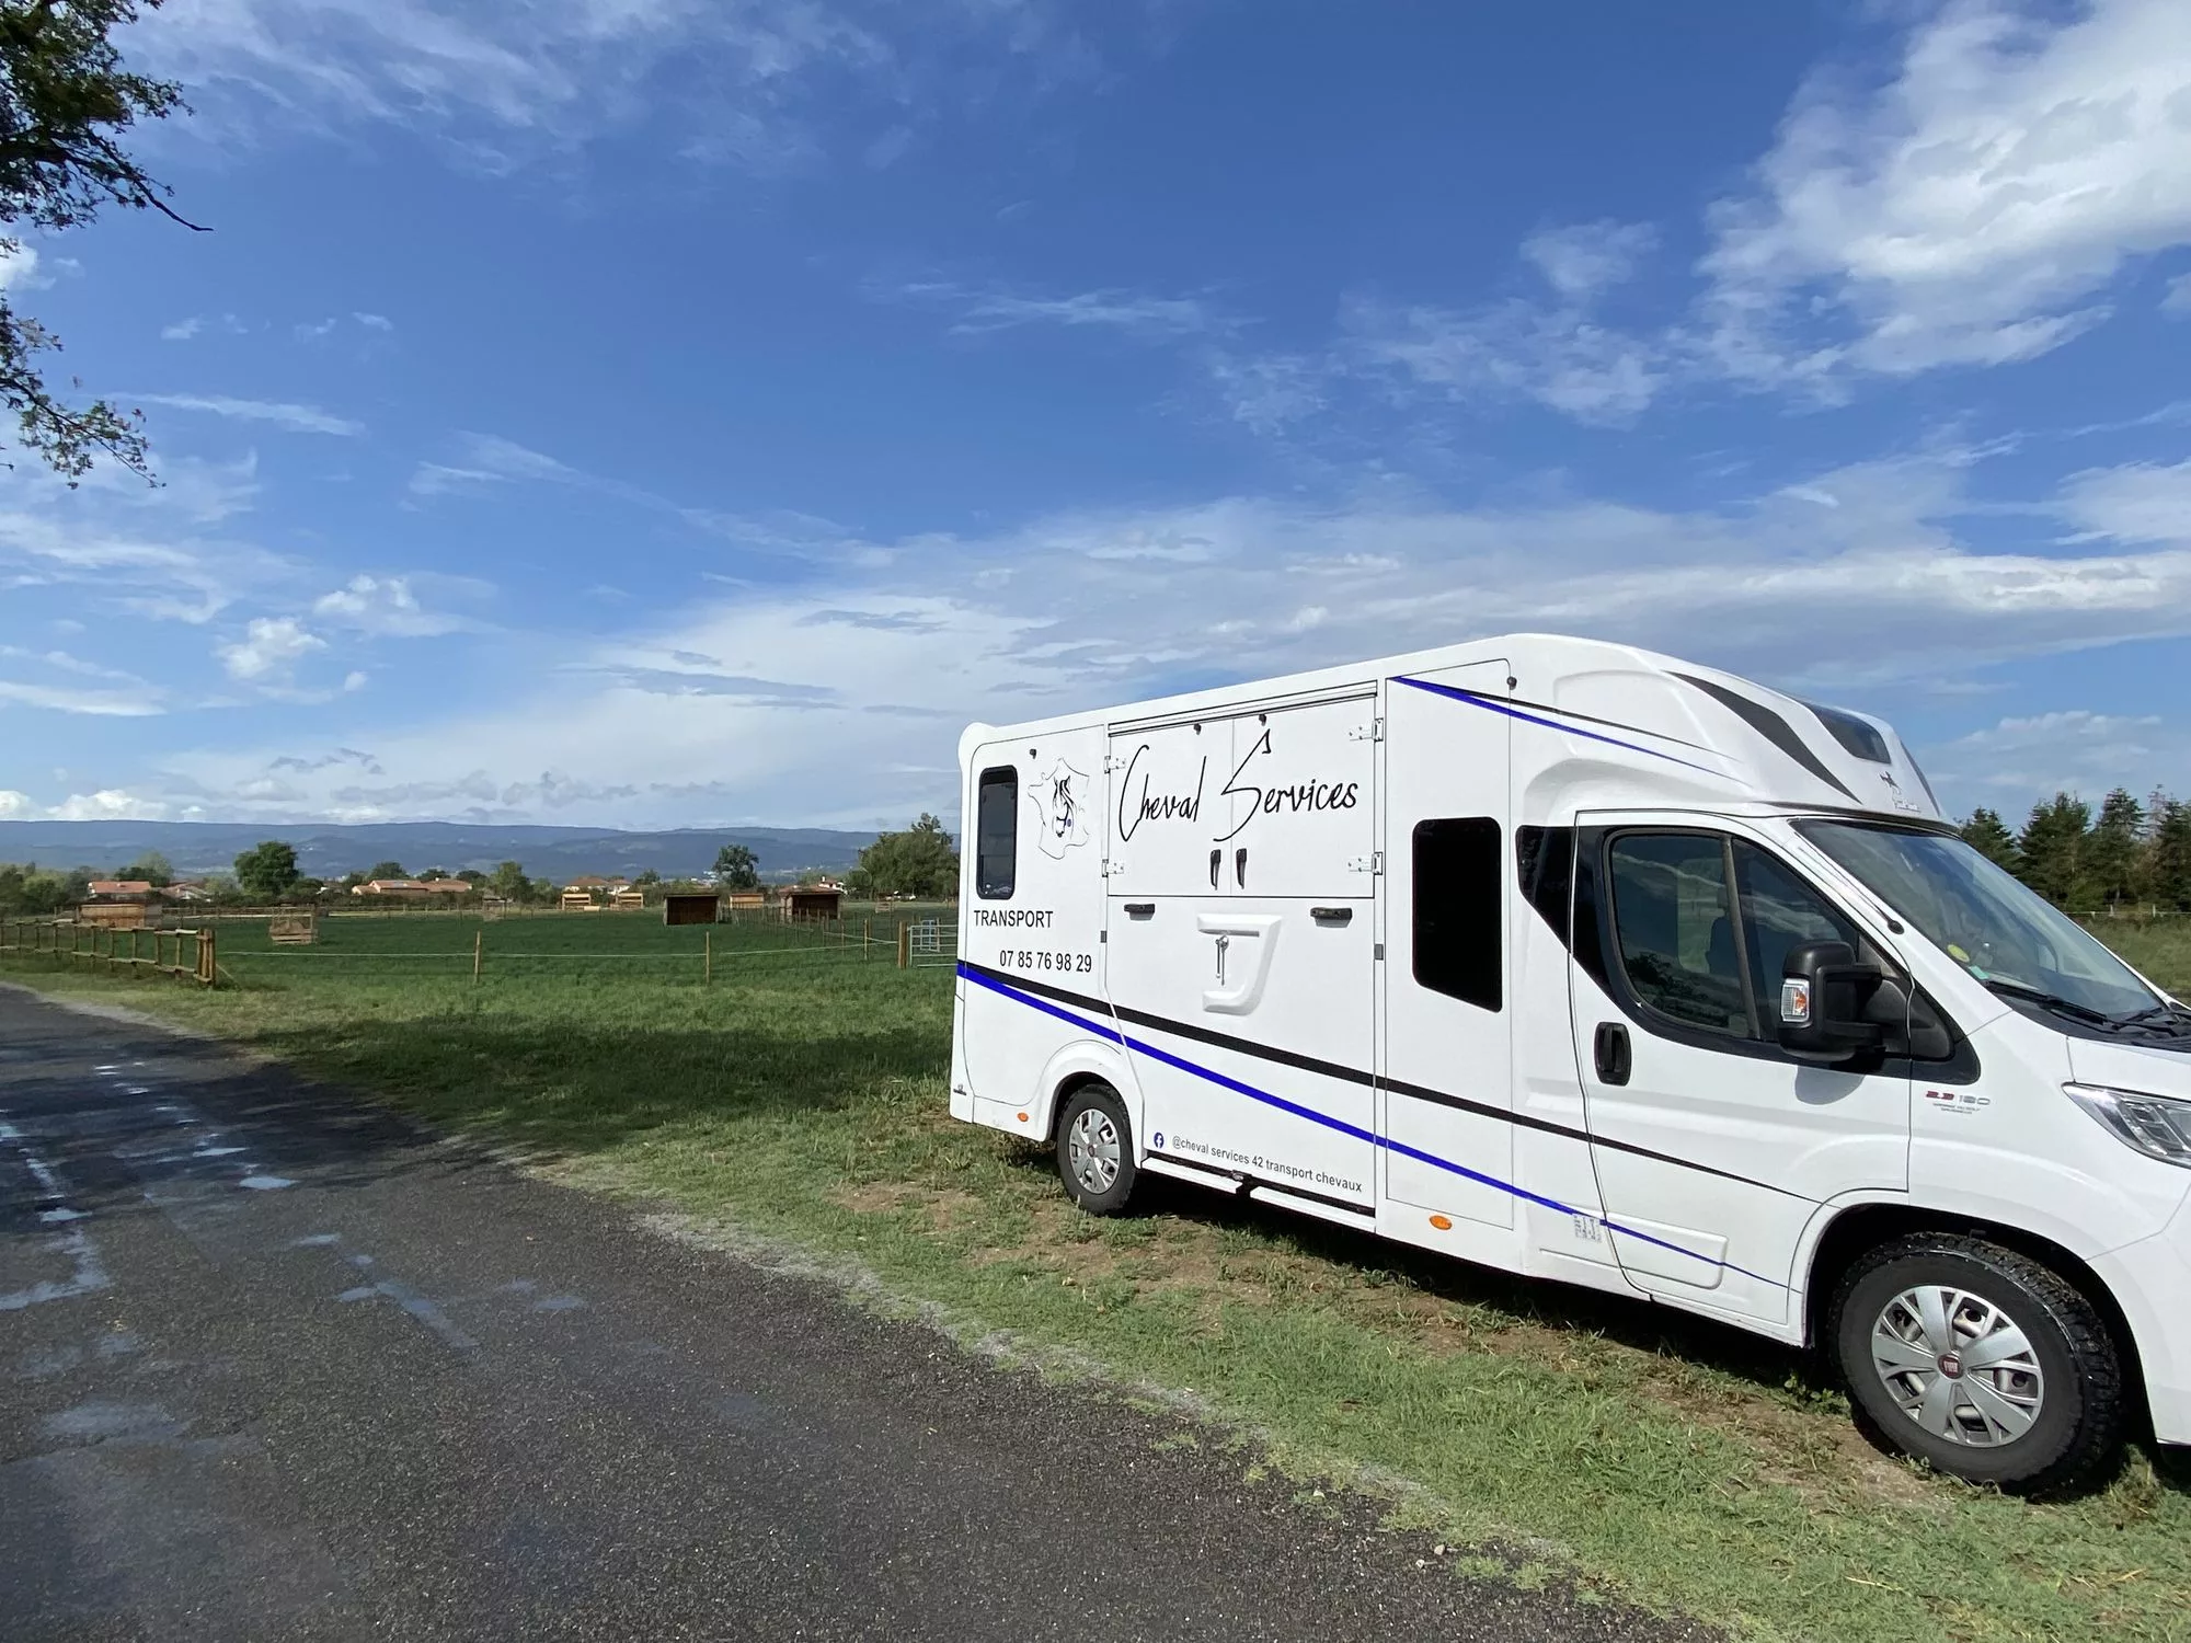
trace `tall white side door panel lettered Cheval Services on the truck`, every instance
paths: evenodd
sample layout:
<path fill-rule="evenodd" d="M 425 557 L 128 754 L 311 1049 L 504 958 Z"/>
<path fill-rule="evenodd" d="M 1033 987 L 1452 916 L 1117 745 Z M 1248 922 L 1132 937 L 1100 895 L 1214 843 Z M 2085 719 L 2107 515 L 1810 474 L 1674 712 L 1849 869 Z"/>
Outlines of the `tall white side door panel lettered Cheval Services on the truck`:
<path fill-rule="evenodd" d="M 1148 1157 L 1363 1216 L 1376 1198 L 1376 725 L 1374 688 L 1356 688 L 1113 725 L 1106 756 L 1109 1001 Z M 1157 1036 L 1188 1041 L 1192 1069 Z"/>

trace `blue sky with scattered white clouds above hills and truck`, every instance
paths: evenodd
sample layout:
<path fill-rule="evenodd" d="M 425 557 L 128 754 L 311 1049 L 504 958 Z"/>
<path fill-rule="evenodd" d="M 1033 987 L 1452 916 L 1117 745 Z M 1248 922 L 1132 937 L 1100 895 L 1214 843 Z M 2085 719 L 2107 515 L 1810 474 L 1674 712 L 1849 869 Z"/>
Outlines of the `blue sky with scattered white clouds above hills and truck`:
<path fill-rule="evenodd" d="M 169 0 L 0 817 L 903 824 L 1514 629 L 2191 789 L 2191 7 Z"/>

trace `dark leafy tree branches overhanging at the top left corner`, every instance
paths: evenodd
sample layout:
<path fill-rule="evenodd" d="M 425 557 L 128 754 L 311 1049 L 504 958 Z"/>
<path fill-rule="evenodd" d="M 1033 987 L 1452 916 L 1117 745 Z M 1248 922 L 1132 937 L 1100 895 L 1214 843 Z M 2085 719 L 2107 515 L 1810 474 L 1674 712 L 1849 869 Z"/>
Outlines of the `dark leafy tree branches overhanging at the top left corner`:
<path fill-rule="evenodd" d="M 136 120 L 188 112 L 169 81 L 131 74 L 110 35 L 160 0 L 0 0 L 0 223 L 46 232 L 79 228 L 105 206 L 158 210 L 197 230 L 169 206 L 169 188 L 123 153 Z M 0 237 L 0 258 L 22 256 L 22 241 Z M 37 320 L 15 313 L 0 294 L 0 403 L 15 412 L 18 440 L 68 484 L 92 471 L 103 451 L 147 473 L 138 412 L 103 399 L 66 405 L 37 361 L 61 346 Z"/>

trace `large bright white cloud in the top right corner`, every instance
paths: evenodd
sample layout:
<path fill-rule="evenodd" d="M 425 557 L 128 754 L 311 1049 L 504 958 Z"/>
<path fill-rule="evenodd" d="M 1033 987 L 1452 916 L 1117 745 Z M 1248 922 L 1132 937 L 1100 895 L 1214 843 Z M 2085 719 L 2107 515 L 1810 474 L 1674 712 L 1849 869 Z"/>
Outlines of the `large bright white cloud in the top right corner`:
<path fill-rule="evenodd" d="M 1705 346 L 1768 383 L 2029 359 L 2184 241 L 2191 7 L 1950 0 L 1886 83 L 1808 85 L 1716 208 Z"/>

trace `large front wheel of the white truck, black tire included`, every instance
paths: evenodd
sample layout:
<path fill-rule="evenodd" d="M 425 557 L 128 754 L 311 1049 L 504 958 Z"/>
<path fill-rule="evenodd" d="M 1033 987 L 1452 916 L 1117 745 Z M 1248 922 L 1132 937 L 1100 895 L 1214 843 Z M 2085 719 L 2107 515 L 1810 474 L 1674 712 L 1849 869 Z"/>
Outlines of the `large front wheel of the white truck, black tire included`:
<path fill-rule="evenodd" d="M 1829 1341 L 1858 1424 L 1970 1483 L 2070 1490 L 2121 1446 L 2108 1325 L 2051 1266 L 1985 1238 L 1880 1244 L 1840 1279 Z"/>

